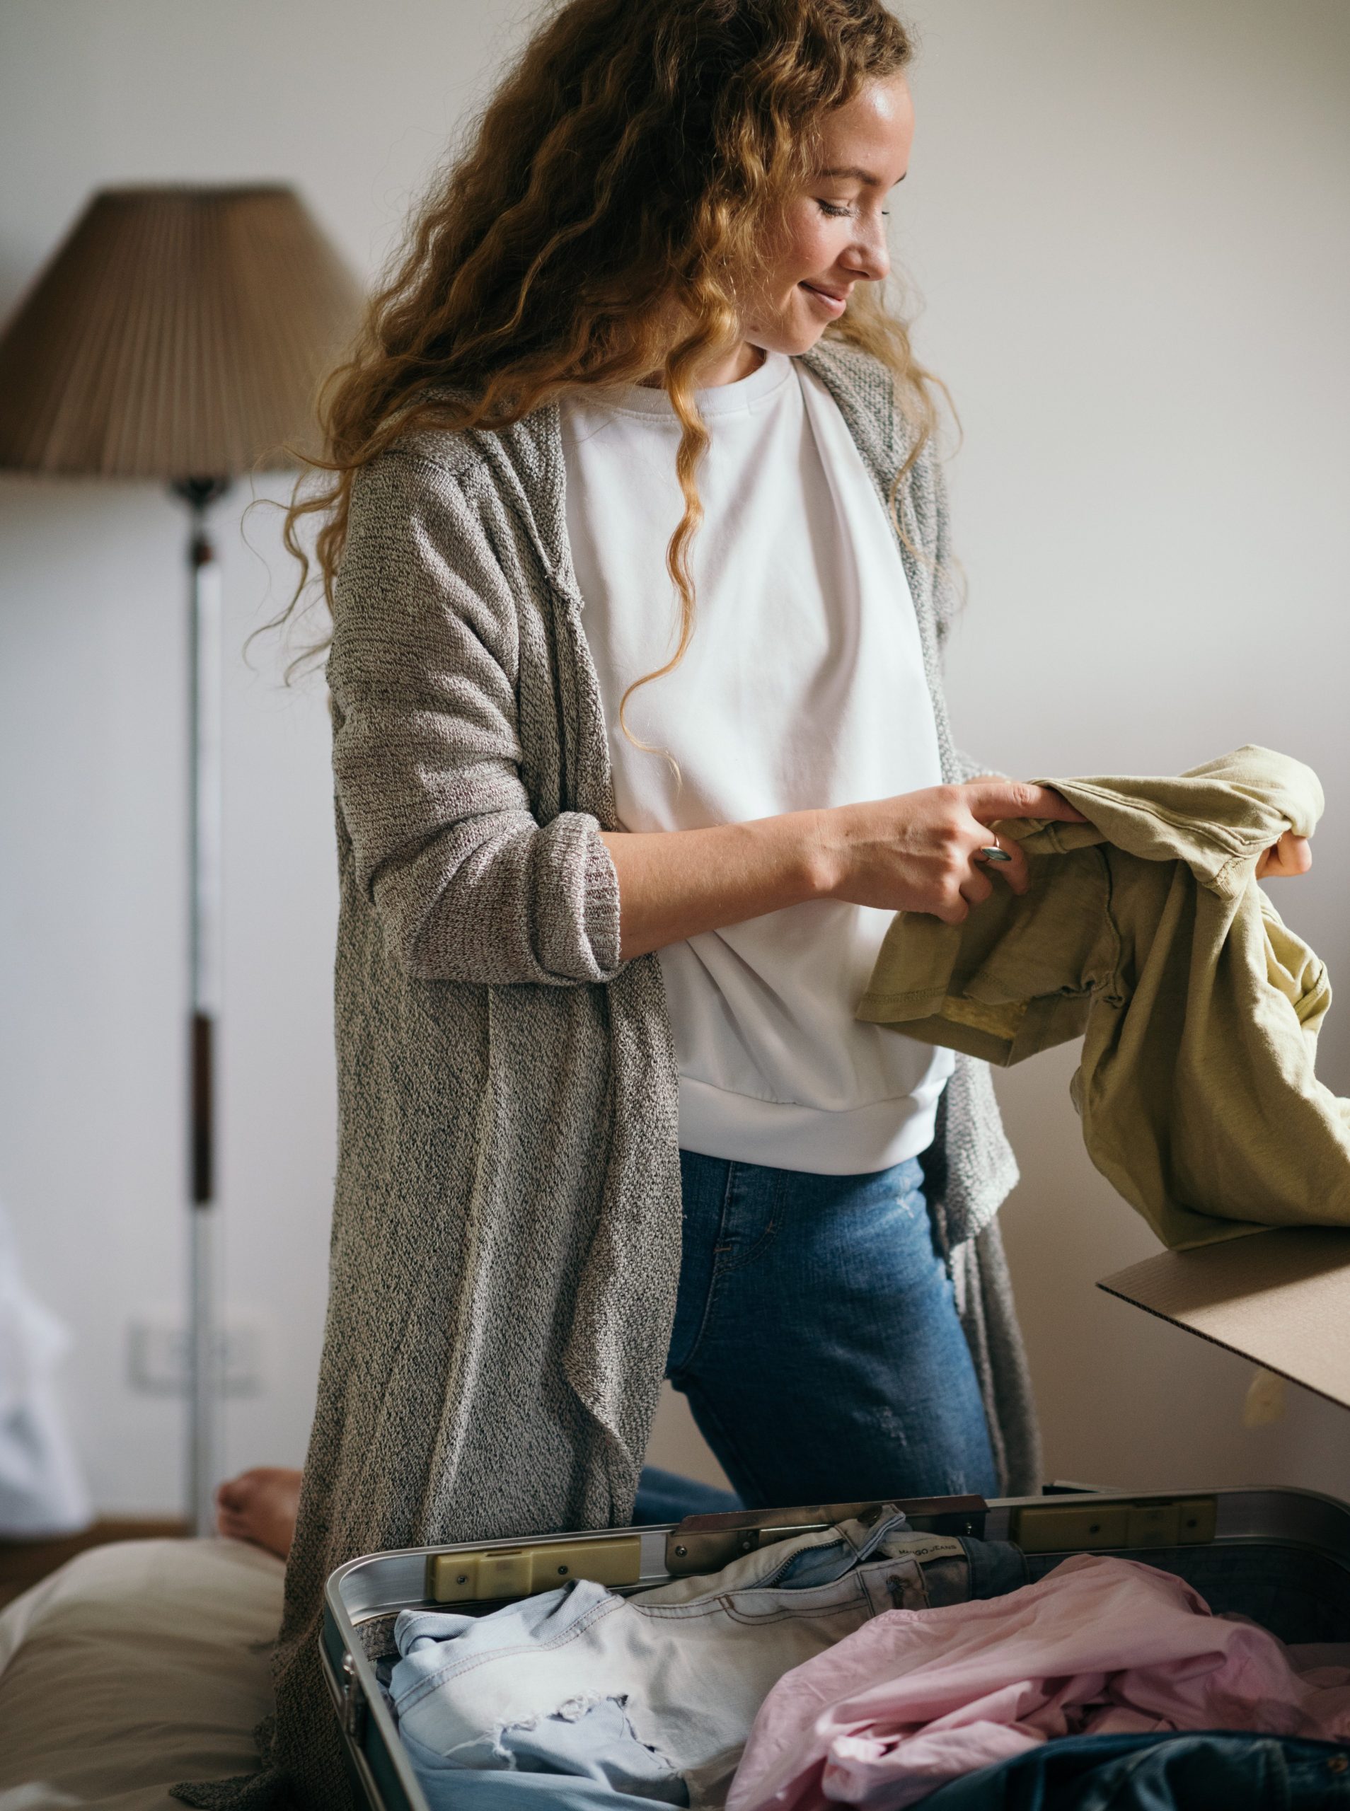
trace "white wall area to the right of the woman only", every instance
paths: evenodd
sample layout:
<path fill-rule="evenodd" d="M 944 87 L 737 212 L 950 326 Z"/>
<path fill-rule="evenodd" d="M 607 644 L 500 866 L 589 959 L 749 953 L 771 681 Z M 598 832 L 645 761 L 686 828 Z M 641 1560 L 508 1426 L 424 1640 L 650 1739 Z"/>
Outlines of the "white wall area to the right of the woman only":
<path fill-rule="evenodd" d="M 1350 969 L 1350 13 L 1131 0 L 922 7 L 922 348 L 951 382 L 971 603 L 957 739 L 1018 773 L 1312 762 L 1317 862 L 1281 911 Z M 1350 1490 L 1350 1418 L 1245 1433 L 1250 1367 L 1091 1288 L 1154 1250 L 1093 1172 L 1071 1052 L 1002 1078 L 1006 1237 L 1051 1472 Z M 1350 1094 L 1350 1016 L 1323 1076 Z"/>

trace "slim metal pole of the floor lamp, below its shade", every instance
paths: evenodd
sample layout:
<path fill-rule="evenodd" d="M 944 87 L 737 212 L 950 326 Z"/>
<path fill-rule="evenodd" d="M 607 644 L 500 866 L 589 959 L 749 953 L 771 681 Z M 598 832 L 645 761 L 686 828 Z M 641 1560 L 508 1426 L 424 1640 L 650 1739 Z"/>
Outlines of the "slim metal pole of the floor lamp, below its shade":
<path fill-rule="evenodd" d="M 219 1447 L 219 1317 L 216 1304 L 216 1025 L 221 1009 L 221 569 L 207 509 L 225 478 L 181 478 L 174 493 L 192 513 L 188 567 L 188 1519 L 216 1530 Z"/>

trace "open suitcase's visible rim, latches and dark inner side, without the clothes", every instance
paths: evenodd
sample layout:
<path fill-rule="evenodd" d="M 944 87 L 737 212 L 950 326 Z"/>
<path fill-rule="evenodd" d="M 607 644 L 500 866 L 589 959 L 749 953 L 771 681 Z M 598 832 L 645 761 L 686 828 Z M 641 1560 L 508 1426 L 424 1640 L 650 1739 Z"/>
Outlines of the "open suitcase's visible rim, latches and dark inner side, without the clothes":
<path fill-rule="evenodd" d="M 350 1561 L 328 1581 L 323 1664 L 361 1797 L 371 1811 L 428 1811 L 375 1677 L 393 1650 L 400 1610 L 493 1610 L 569 1577 L 627 1594 L 716 1572 L 757 1547 L 877 1507 L 690 1516 L 663 1527 Z M 1118 1554 L 1176 1572 L 1212 1610 L 1249 1615 L 1281 1641 L 1350 1641 L 1350 1507 L 1330 1496 L 1285 1489 L 1125 1496 L 1053 1487 L 1040 1498 L 930 1498 L 897 1507 L 922 1532 L 1015 1541 L 1033 1579 L 1069 1554 Z"/>

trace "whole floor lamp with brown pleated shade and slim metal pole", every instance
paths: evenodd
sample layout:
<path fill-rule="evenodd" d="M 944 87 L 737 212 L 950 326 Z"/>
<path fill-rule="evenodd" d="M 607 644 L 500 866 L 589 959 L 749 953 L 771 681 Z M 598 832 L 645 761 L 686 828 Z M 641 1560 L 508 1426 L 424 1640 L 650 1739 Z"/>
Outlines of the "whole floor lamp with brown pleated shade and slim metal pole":
<path fill-rule="evenodd" d="M 208 505 L 295 465 L 357 284 L 290 188 L 92 197 L 0 335 L 0 471 L 167 482 L 190 511 L 188 1514 L 214 1527 L 221 583 Z"/>

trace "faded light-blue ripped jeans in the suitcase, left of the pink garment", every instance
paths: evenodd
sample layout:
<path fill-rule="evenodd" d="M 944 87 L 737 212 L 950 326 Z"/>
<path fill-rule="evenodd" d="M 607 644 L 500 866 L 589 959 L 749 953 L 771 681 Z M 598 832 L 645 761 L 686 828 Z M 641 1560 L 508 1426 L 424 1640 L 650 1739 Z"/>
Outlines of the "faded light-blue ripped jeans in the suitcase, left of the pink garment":
<path fill-rule="evenodd" d="M 404 1612 L 390 1695 L 435 1804 L 484 1811 L 477 1784 L 502 1773 L 719 1804 L 792 1666 L 886 1610 L 1000 1595 L 1024 1579 L 1006 1543 L 917 1534 L 895 1514 L 848 1521 L 632 1597 L 578 1581 L 486 1617 Z"/>

